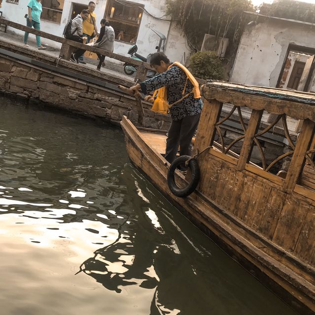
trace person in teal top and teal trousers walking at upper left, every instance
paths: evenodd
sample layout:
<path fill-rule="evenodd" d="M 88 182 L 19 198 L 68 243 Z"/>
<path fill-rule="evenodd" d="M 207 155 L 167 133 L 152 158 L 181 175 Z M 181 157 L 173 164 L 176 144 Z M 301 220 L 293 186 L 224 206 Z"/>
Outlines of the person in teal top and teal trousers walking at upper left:
<path fill-rule="evenodd" d="M 34 28 L 35 30 L 40 31 L 40 15 L 42 12 L 42 7 L 40 0 L 30 0 L 28 4 L 29 13 L 26 15 L 26 26 Z M 24 46 L 29 47 L 28 45 L 29 32 L 24 34 Z M 36 43 L 38 49 L 46 49 L 40 43 L 40 36 L 36 35 Z"/>

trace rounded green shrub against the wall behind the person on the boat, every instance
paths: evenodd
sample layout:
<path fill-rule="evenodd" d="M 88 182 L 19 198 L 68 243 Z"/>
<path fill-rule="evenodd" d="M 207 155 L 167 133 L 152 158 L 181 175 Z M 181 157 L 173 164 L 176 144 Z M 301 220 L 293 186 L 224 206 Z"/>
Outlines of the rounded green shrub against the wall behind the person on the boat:
<path fill-rule="evenodd" d="M 200 79 L 220 80 L 223 75 L 223 64 L 215 52 L 198 51 L 190 56 L 189 70 Z"/>

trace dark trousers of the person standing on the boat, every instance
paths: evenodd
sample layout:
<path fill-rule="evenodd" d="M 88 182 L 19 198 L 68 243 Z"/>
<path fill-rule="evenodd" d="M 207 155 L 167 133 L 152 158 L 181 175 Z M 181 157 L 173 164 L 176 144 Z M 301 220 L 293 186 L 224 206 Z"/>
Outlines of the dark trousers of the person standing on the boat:
<path fill-rule="evenodd" d="M 200 114 L 188 116 L 179 121 L 172 121 L 166 139 L 165 159 L 172 163 L 180 146 L 180 156 L 191 156 L 191 139 L 197 129 Z"/>

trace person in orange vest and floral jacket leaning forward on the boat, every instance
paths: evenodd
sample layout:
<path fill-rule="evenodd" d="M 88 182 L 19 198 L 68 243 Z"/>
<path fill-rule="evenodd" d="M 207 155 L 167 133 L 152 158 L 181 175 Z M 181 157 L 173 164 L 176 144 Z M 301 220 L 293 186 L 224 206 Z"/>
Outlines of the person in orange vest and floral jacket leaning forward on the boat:
<path fill-rule="evenodd" d="M 161 52 L 151 56 L 151 66 L 160 74 L 137 84 L 130 89 L 141 90 L 143 94 L 154 93 L 145 99 L 154 102 L 152 109 L 159 105 L 168 107 L 172 123 L 166 139 L 165 159 L 172 163 L 180 146 L 180 156 L 191 156 L 191 139 L 197 129 L 202 100 L 199 85 L 189 70 L 181 63 L 170 63 Z M 167 101 L 167 103 L 166 103 Z"/>

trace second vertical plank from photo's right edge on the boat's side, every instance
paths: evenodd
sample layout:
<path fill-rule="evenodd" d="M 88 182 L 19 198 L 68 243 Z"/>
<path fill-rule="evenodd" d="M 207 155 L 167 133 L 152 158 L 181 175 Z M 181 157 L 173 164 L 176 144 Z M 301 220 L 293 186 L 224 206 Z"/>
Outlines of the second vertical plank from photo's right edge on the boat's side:
<path fill-rule="evenodd" d="M 310 205 L 288 195 L 272 241 L 293 252 Z"/>

